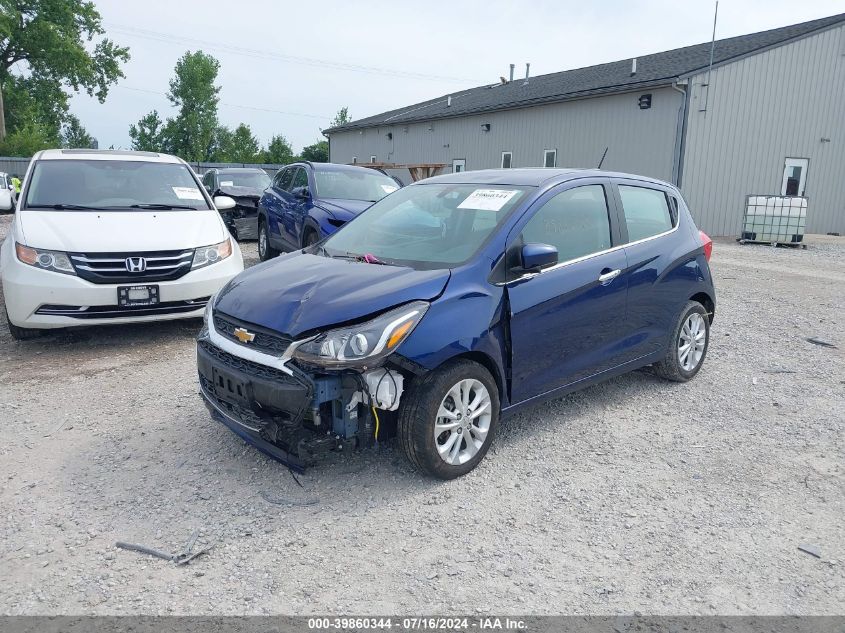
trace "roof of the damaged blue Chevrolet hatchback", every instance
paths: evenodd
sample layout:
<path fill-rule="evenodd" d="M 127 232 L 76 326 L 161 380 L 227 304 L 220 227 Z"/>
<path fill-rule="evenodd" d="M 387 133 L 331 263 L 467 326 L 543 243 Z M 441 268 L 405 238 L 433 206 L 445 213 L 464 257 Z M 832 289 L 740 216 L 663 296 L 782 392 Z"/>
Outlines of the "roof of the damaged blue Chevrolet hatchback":
<path fill-rule="evenodd" d="M 524 169 L 479 169 L 476 171 L 462 171 L 456 174 L 443 174 L 426 178 L 414 185 L 427 185 L 435 183 L 452 184 L 484 184 L 484 185 L 514 185 L 518 187 L 541 187 L 560 184 L 568 180 L 579 178 L 627 178 L 641 180 L 653 184 L 673 187 L 671 183 L 615 171 L 604 171 L 601 169 L 578 169 L 574 167 L 533 167 Z"/>

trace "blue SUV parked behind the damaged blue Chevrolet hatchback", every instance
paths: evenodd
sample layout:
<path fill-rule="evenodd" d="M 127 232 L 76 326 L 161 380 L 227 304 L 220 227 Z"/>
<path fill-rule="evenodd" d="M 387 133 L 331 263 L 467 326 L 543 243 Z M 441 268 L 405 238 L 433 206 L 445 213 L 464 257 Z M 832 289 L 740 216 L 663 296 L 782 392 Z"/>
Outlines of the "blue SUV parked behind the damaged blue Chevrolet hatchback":
<path fill-rule="evenodd" d="M 258 203 L 258 256 L 319 242 L 374 202 L 399 189 L 390 176 L 353 165 L 289 165 L 276 173 Z"/>

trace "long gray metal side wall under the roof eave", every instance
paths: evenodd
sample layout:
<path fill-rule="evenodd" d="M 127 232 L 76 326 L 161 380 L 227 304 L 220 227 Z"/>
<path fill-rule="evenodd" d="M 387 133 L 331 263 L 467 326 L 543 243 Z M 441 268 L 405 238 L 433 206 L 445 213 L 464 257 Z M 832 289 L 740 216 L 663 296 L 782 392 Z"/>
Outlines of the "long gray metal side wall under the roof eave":
<path fill-rule="evenodd" d="M 495 88 L 492 88 L 495 90 Z M 640 110 L 640 94 L 652 107 Z M 557 149 L 558 167 L 590 167 L 609 147 L 603 168 L 664 180 L 672 178 L 673 149 L 681 95 L 654 88 L 602 98 L 569 101 L 431 123 L 380 126 L 331 135 L 331 161 L 445 163 L 466 159 L 467 170 L 498 168 L 502 152 L 513 152 L 513 167 L 542 167 L 543 150 Z M 484 132 L 482 124 L 490 124 Z M 388 138 L 388 133 L 393 138 Z M 408 180 L 407 171 L 399 174 Z"/>

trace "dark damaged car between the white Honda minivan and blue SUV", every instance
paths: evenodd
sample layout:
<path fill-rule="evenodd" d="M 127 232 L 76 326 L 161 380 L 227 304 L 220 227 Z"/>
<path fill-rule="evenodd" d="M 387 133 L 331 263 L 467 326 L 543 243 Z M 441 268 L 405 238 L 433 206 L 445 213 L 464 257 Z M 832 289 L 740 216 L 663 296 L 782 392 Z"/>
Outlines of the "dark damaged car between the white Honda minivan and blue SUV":
<path fill-rule="evenodd" d="M 258 167 L 209 169 L 202 184 L 212 197 L 228 196 L 235 201 L 234 208 L 220 215 L 236 240 L 258 239 L 258 200 L 270 185 L 266 171 Z"/>

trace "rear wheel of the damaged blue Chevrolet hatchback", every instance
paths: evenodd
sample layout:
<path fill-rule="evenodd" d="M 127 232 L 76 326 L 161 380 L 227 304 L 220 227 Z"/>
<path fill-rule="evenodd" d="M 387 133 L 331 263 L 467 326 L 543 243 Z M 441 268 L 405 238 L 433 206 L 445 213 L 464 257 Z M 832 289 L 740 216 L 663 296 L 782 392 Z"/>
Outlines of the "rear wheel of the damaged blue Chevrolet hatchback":
<path fill-rule="evenodd" d="M 674 382 L 691 380 L 704 364 L 710 344 L 710 318 L 703 305 L 687 302 L 670 341 L 663 360 L 654 365 L 655 373 Z"/>

